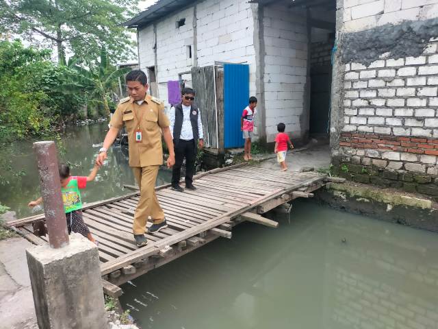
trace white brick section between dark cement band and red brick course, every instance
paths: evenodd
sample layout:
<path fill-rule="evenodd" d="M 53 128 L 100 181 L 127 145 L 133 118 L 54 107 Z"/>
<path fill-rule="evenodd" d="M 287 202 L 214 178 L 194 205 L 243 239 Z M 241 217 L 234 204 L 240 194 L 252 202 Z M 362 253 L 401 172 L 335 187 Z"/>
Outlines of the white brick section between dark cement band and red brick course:
<path fill-rule="evenodd" d="M 436 45 L 430 43 L 417 58 L 388 58 L 370 66 L 348 63 L 344 79 L 351 88 L 344 90 L 343 131 L 434 136 L 438 127 L 438 66 L 425 63 L 437 56 L 433 52 Z"/>

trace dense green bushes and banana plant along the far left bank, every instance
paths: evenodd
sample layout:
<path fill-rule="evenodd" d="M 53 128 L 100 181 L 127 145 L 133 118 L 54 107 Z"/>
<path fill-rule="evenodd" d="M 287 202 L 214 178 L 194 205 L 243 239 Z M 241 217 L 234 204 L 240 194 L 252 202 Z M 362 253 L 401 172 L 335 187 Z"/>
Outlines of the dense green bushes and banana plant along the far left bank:
<path fill-rule="evenodd" d="M 106 116 L 118 77 L 102 49 L 101 61 L 80 66 L 51 61 L 51 50 L 0 41 L 0 143 L 52 133 L 70 121 Z M 97 65 L 96 67 L 94 67 Z M 94 72 L 99 73 L 94 73 Z"/>

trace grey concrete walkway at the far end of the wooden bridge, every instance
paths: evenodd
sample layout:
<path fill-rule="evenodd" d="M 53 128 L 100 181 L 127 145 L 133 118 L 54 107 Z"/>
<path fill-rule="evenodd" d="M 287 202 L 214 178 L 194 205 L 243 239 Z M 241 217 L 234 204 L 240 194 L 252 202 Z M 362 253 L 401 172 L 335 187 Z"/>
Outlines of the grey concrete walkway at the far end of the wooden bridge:
<path fill-rule="evenodd" d="M 304 167 L 320 168 L 329 167 L 330 165 L 330 146 L 328 144 L 307 145 L 305 149 L 289 151 L 286 157 L 286 163 L 289 171 L 301 171 Z M 279 169 L 280 164 L 276 161 L 276 156 L 261 161 L 257 164 L 262 168 Z"/>

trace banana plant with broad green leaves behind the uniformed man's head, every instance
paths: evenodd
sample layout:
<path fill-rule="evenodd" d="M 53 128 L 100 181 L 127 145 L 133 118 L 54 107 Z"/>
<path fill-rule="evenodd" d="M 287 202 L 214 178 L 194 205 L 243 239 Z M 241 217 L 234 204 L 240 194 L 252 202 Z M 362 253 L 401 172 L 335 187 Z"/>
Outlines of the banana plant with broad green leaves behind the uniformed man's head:
<path fill-rule="evenodd" d="M 101 50 L 101 59 L 98 65 L 88 63 L 88 69 L 71 60 L 68 67 L 75 70 L 75 74 L 67 75 L 67 82 L 57 88 L 64 95 L 85 92 L 91 103 L 103 105 L 105 114 L 110 116 L 111 92 L 116 88 L 118 79 L 131 71 L 130 68 L 116 69 L 110 65 L 105 49 Z"/>

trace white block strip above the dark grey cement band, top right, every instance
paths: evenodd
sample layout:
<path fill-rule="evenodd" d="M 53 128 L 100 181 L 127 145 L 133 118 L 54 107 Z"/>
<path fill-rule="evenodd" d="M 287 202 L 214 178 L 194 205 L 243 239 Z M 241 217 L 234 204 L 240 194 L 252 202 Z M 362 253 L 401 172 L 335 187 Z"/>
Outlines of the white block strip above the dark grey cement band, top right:
<path fill-rule="evenodd" d="M 344 32 L 437 17 L 438 0 L 344 0 Z"/>

